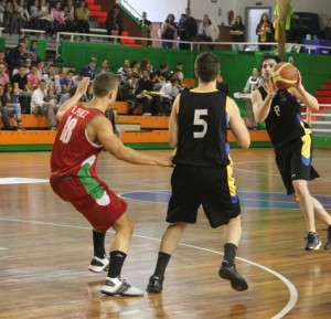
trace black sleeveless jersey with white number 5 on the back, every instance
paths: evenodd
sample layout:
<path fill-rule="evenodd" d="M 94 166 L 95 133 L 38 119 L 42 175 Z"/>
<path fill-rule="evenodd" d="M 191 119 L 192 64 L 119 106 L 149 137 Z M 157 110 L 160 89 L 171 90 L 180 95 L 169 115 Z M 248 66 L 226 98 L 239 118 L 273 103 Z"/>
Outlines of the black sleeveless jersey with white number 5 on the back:
<path fill-rule="evenodd" d="M 174 163 L 217 167 L 229 163 L 226 96 L 223 93 L 186 91 L 180 95 L 179 139 Z"/>

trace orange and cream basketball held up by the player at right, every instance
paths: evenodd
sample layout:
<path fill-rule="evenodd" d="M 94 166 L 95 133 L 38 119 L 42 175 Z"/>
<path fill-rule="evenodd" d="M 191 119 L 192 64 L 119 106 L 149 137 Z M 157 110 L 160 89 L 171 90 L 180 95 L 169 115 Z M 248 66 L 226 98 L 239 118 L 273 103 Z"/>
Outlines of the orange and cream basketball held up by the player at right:
<path fill-rule="evenodd" d="M 287 62 L 281 62 L 274 67 L 271 77 L 274 84 L 278 88 L 287 89 L 296 85 L 299 77 L 299 71 L 292 64 Z"/>

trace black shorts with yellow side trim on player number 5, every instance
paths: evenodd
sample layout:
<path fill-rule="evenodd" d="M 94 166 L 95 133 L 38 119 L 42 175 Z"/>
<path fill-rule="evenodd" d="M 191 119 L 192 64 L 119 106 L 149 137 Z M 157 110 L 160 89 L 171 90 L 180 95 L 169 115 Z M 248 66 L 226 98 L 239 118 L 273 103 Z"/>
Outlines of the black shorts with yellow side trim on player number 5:
<path fill-rule="evenodd" d="M 168 205 L 167 222 L 196 223 L 202 204 L 211 226 L 227 224 L 241 214 L 232 166 L 183 167 L 177 166 L 171 176 L 172 194 Z"/>

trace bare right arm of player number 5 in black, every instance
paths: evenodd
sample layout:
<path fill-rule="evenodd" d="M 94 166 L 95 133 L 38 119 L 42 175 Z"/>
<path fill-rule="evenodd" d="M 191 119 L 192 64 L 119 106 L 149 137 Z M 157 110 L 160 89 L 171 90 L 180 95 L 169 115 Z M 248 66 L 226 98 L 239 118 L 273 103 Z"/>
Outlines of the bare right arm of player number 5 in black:
<path fill-rule="evenodd" d="M 241 117 L 241 111 L 236 103 L 227 97 L 226 98 L 226 110 L 228 114 L 229 128 L 237 141 L 237 143 L 243 148 L 248 148 L 250 145 L 249 132 L 246 125 Z"/>

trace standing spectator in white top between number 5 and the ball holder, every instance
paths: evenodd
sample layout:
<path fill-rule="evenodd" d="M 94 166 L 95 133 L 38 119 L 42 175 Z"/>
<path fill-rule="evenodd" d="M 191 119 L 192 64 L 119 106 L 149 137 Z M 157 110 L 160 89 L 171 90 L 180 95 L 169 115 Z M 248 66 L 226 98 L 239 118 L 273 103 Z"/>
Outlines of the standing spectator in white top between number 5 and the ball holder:
<path fill-rule="evenodd" d="M 248 77 L 246 82 L 244 93 L 252 94 L 253 91 L 257 89 L 263 84 L 264 84 L 264 79 L 263 77 L 259 76 L 259 68 L 253 67 L 252 75 Z M 253 111 L 252 99 L 246 98 L 245 100 L 246 100 L 246 116 L 247 116 L 246 126 L 248 129 L 257 129 L 257 124 Z"/>

